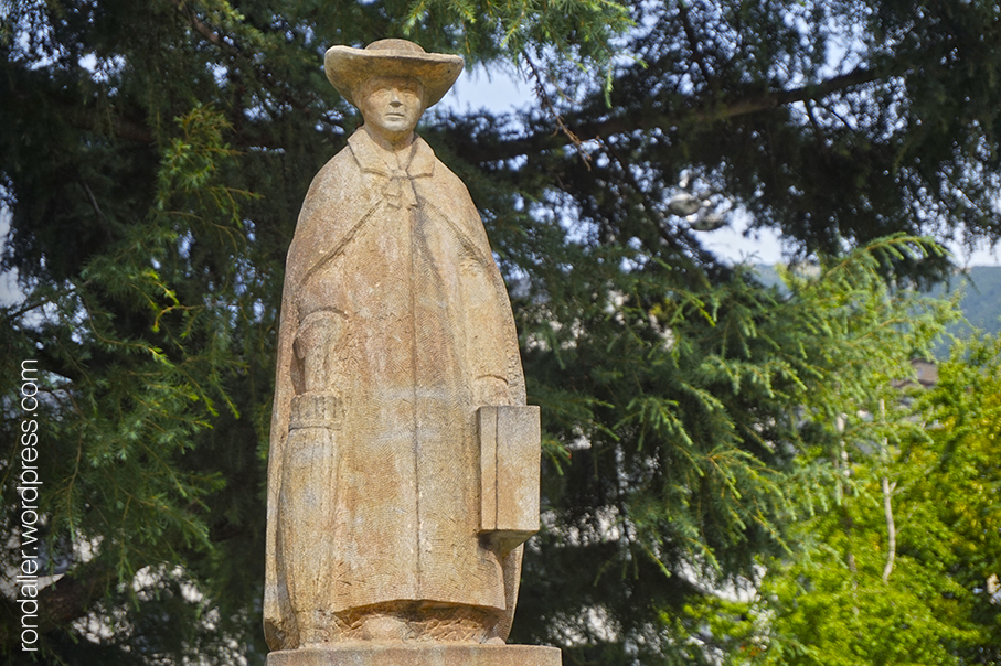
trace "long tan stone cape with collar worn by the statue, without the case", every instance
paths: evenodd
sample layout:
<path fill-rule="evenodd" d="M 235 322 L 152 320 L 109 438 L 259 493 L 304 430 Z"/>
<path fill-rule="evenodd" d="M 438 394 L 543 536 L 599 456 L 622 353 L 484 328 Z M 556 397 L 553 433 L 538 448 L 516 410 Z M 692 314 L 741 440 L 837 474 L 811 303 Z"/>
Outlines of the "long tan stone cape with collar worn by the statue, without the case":
<path fill-rule="evenodd" d="M 525 404 L 507 291 L 461 181 L 419 138 L 405 171 L 386 158 L 355 132 L 315 178 L 289 248 L 268 466 L 273 649 L 304 632 L 350 640 L 359 612 L 407 604 L 496 615 L 504 638 L 514 610 L 522 547 L 477 535 L 476 410 Z M 318 321 L 321 390 L 296 348 Z"/>

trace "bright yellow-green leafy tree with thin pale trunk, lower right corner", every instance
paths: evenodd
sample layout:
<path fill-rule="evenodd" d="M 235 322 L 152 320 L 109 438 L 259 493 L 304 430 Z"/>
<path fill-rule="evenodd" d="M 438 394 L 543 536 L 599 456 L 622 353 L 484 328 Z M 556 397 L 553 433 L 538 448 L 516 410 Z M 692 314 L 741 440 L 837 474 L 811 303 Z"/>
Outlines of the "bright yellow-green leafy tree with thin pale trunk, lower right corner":
<path fill-rule="evenodd" d="M 748 617 L 732 663 L 1001 659 L 1001 340 L 958 343 L 934 387 L 911 389 L 909 427 L 850 422 L 851 474 L 803 523 L 808 557 L 769 562 L 757 599 L 730 604 Z"/>

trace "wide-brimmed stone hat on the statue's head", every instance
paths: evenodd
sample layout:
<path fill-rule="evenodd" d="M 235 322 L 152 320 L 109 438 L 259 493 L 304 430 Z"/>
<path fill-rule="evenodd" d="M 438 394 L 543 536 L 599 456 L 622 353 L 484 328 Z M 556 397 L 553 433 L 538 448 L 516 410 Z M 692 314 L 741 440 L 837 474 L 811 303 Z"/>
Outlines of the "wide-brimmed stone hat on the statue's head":
<path fill-rule="evenodd" d="M 406 40 L 379 40 L 364 49 L 331 46 L 323 60 L 328 80 L 354 106 L 355 90 L 373 76 L 401 76 L 420 82 L 430 107 L 445 97 L 465 64 L 460 55 L 427 53 Z"/>

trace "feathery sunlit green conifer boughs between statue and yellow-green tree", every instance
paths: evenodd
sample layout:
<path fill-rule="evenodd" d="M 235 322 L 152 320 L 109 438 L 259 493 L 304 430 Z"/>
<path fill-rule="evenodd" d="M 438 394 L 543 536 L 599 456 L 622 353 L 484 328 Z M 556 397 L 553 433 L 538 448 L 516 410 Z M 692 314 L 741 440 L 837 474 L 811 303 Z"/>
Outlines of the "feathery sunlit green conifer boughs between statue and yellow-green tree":
<path fill-rule="evenodd" d="M 594 362 L 564 352 L 574 384 L 593 383 L 607 402 L 589 415 L 595 427 L 564 485 L 547 493 L 568 519 L 526 562 L 539 582 L 524 594 L 542 595 L 530 626 L 572 636 L 567 663 L 712 664 L 758 637 L 753 623 L 728 619 L 749 612 L 728 594 L 754 589 L 759 562 L 800 563 L 814 534 L 801 522 L 837 522 L 833 507 L 848 502 L 840 423 L 909 377 L 912 356 L 956 316 L 949 302 L 883 281 L 884 253 L 901 243 L 826 262 L 813 278 L 787 275 L 785 297 L 754 300 L 762 291 L 739 276 L 711 297 L 678 294 L 692 310 L 665 320 L 669 345 L 633 333 L 650 327 L 649 314 L 627 310 L 630 334 L 609 335 L 615 346 L 603 351 L 616 354 L 615 374 L 582 377 Z M 699 316 L 692 301 L 710 298 Z M 621 354 L 628 344 L 639 348 Z M 632 404 L 615 405 L 619 396 Z M 628 421 L 611 427 L 609 408 Z M 916 428 L 849 421 L 859 442 Z M 604 635 L 588 631 L 595 609 Z"/>

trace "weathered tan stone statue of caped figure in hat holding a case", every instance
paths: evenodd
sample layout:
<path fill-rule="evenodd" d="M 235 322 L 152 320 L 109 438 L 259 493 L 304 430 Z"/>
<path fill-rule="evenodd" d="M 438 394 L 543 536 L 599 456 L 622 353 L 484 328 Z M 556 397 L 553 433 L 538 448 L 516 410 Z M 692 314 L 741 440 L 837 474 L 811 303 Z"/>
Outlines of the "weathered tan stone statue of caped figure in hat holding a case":
<path fill-rule="evenodd" d="M 503 644 L 539 524 L 539 412 L 476 207 L 414 133 L 462 65 L 403 40 L 327 52 L 364 126 L 313 179 L 288 251 L 269 666 L 309 651 L 369 663 L 336 655 L 373 646 L 529 649 Z M 505 663 L 469 649 L 457 664 Z M 549 660 L 511 663 L 560 663 L 532 649 Z"/>

